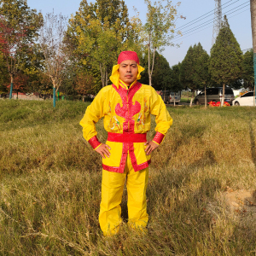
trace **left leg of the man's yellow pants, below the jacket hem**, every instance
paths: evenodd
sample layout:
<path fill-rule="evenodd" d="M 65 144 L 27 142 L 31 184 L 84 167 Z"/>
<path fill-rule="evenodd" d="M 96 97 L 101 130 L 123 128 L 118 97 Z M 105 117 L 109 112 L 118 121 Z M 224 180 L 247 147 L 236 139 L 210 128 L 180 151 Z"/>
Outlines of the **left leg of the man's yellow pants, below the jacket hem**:
<path fill-rule="evenodd" d="M 111 236 L 119 231 L 125 173 L 102 171 L 102 202 L 99 222 L 104 236 Z"/>

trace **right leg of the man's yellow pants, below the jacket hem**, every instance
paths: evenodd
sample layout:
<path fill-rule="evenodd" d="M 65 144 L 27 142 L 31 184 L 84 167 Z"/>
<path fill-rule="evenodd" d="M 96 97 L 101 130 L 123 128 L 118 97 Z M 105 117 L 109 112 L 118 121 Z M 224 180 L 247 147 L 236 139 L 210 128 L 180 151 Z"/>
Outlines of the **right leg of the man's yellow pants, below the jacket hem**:
<path fill-rule="evenodd" d="M 148 168 L 134 172 L 130 155 L 127 157 L 129 166 L 126 187 L 128 192 L 128 224 L 131 228 L 142 228 L 148 224 L 146 189 L 148 186 Z"/>

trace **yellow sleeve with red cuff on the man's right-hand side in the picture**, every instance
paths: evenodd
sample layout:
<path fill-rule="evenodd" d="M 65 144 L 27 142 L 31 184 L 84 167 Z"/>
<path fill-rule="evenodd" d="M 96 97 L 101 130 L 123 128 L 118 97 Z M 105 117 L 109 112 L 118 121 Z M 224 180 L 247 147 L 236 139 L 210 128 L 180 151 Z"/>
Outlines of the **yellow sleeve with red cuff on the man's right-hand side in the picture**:
<path fill-rule="evenodd" d="M 166 109 L 166 104 L 162 100 L 161 96 L 152 87 L 151 102 L 150 102 L 150 113 L 155 115 L 155 131 L 154 143 L 162 143 L 166 132 L 172 125 L 172 118 Z"/>

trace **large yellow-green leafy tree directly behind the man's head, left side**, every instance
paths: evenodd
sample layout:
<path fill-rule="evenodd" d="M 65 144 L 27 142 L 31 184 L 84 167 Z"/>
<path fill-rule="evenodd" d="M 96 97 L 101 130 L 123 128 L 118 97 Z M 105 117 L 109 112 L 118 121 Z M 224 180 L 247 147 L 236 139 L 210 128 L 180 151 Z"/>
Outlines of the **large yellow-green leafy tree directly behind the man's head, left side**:
<path fill-rule="evenodd" d="M 99 71 L 103 87 L 108 84 L 108 74 L 119 52 L 129 49 L 132 33 L 123 0 L 97 0 L 90 4 L 84 0 L 69 20 L 66 39 L 79 69 Z"/>

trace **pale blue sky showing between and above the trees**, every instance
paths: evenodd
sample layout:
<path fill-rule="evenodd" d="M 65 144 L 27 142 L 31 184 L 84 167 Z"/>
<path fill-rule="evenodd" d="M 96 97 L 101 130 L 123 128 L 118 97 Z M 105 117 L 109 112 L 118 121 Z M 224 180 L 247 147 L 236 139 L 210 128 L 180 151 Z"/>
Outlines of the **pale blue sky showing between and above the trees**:
<path fill-rule="evenodd" d="M 27 4 L 31 9 L 41 11 L 43 15 L 52 12 L 62 15 L 75 14 L 79 9 L 81 0 L 27 0 Z M 88 0 L 88 2 L 95 2 Z M 172 1 L 176 4 L 178 1 Z M 177 30 L 183 33 L 183 37 L 176 37 L 173 43 L 176 46 L 167 46 L 162 55 L 169 61 L 170 66 L 176 65 L 179 61 L 183 61 L 189 46 L 201 43 L 202 47 L 210 54 L 212 48 L 212 30 L 214 18 L 214 0 L 180 0 L 181 4 L 177 9 L 177 15 L 186 17 L 186 19 L 178 18 L 176 21 Z M 139 13 L 140 18 L 145 22 L 147 6 L 143 0 L 125 0 L 128 7 L 129 15 L 135 15 L 133 7 Z M 241 50 L 253 47 L 251 15 L 249 9 L 249 0 L 222 0 L 223 15 L 227 15 L 230 29 L 234 33 L 237 42 L 241 46 Z M 208 17 L 207 17 L 208 16 Z M 201 18 L 200 18 L 201 17 Z M 199 18 L 199 19 L 198 19 Z M 194 20 L 194 21 L 193 21 Z M 179 29 L 180 27 L 180 29 Z"/>

